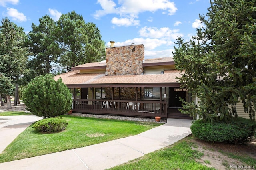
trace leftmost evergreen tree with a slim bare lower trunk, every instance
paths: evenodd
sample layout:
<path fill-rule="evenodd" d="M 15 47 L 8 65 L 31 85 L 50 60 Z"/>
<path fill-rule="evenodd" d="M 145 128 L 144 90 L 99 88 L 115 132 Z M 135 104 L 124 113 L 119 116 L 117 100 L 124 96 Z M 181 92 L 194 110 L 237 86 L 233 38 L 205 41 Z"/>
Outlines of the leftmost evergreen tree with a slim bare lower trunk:
<path fill-rule="evenodd" d="M 18 27 L 8 18 L 1 21 L 0 26 L 0 73 L 11 77 L 16 85 L 14 105 L 17 105 L 18 85 L 26 70 L 26 61 L 29 55 L 25 45 L 27 36 L 22 27 Z"/>

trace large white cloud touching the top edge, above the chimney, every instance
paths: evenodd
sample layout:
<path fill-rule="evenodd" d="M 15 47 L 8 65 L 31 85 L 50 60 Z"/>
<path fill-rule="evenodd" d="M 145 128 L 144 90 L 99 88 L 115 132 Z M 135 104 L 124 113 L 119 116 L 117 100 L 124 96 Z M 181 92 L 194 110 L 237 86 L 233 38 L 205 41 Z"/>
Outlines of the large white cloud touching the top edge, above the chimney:
<path fill-rule="evenodd" d="M 169 0 L 147 0 L 146 3 L 141 0 L 119 0 L 118 5 L 113 0 L 98 0 L 97 3 L 100 4 L 102 10 L 97 10 L 94 14 L 94 18 L 100 18 L 107 14 L 117 14 L 121 19 L 126 18 L 131 20 L 138 18 L 139 13 L 146 11 L 155 12 L 157 10 L 164 10 L 168 11 L 168 15 L 173 15 L 177 10 L 174 2 L 170 2 Z M 113 19 L 118 21 L 117 17 Z M 120 20 L 120 22 L 121 21 L 122 20 Z M 136 21 L 136 24 L 133 25 L 139 24 L 139 20 L 134 21 Z M 117 22 L 117 24 L 120 22 Z M 123 25 L 125 24 L 119 24 L 119 26 Z"/>

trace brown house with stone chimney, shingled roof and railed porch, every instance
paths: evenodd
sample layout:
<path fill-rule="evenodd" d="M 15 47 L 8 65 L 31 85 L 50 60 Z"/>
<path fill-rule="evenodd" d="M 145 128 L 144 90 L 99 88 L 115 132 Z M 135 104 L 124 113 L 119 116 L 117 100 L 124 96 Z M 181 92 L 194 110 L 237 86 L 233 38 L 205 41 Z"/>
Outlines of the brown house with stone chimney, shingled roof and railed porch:
<path fill-rule="evenodd" d="M 106 48 L 106 61 L 72 67 L 57 75 L 73 95 L 72 109 L 138 117 L 192 119 L 178 111 L 182 103 L 198 100 L 181 89 L 172 57 L 144 59 L 144 45 Z"/>

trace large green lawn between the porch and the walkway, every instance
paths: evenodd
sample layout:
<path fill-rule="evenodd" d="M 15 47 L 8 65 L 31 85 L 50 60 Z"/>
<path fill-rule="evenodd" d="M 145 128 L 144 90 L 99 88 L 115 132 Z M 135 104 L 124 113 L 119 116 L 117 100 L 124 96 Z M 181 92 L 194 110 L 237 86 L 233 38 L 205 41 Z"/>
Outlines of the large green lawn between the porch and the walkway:
<path fill-rule="evenodd" d="M 161 125 L 71 115 L 61 117 L 68 121 L 64 131 L 42 133 L 35 131 L 31 125 L 0 154 L 0 163 L 124 138 Z"/>

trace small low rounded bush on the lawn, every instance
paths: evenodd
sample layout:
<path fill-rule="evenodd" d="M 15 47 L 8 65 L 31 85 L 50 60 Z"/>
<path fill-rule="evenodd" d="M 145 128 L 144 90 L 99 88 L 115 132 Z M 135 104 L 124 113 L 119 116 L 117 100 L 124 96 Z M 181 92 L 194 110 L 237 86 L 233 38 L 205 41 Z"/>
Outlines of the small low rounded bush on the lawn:
<path fill-rule="evenodd" d="M 47 118 L 37 121 L 33 128 L 40 132 L 59 132 L 64 130 L 68 122 L 61 118 Z"/>

